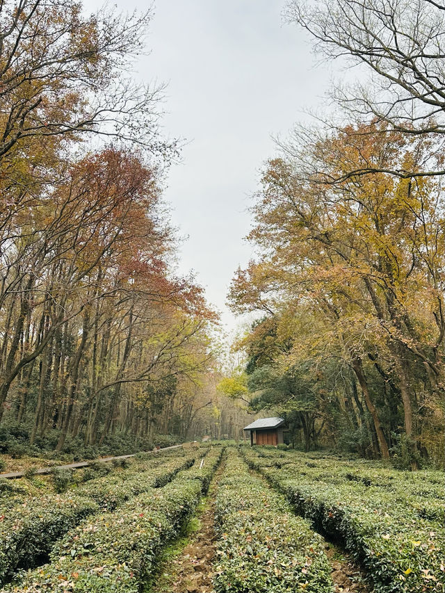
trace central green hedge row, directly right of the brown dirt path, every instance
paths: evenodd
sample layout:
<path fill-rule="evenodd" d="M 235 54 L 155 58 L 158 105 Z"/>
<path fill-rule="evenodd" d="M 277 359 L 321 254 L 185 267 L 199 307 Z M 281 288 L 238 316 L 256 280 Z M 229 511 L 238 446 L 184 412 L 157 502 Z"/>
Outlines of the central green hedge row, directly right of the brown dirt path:
<path fill-rule="evenodd" d="M 332 592 L 321 537 L 233 450 L 218 485 L 216 519 L 217 593 Z"/>

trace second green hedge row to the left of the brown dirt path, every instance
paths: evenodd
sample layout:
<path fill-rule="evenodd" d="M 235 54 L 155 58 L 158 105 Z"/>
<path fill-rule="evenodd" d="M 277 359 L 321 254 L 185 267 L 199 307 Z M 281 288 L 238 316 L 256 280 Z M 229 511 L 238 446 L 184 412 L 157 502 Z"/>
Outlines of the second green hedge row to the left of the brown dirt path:
<path fill-rule="evenodd" d="M 14 507 L 0 521 L 0 585 L 20 568 L 47 560 L 57 539 L 85 517 L 100 510 L 114 510 L 133 496 L 165 485 L 175 474 L 193 464 L 192 454 L 145 462 L 145 471 L 127 476 L 105 476 L 65 494 L 31 498 Z M 160 463 L 161 462 L 161 463 Z"/>

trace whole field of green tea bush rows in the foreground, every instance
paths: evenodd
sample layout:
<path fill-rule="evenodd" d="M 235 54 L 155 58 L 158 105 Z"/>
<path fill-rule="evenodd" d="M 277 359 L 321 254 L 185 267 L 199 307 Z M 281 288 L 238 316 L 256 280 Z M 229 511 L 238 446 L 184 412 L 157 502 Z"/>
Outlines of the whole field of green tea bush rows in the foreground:
<path fill-rule="evenodd" d="M 212 588 L 196 591 L 340 591 L 327 541 L 370 593 L 445 591 L 438 471 L 214 445 L 62 478 L 1 490 L 2 591 L 157 593 L 165 553 L 203 505 L 214 509 L 215 554 L 201 567 Z"/>

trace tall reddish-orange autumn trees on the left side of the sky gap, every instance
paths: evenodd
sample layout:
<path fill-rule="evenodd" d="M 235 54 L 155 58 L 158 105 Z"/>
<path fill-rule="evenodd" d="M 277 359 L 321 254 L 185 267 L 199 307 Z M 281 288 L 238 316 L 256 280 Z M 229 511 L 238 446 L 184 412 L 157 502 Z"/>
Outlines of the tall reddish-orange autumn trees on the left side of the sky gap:
<path fill-rule="evenodd" d="M 161 200 L 161 91 L 128 74 L 149 18 L 0 6 L 0 418 L 31 445 L 171 432 L 211 361 Z"/>

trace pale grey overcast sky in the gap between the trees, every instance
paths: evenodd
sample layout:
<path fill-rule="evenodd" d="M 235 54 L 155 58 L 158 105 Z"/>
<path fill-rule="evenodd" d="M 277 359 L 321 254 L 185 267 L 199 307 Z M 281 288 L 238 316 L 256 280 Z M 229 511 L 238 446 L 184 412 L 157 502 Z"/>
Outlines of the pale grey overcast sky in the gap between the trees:
<path fill-rule="evenodd" d="M 99 4 L 85 1 L 87 10 Z M 165 193 L 173 224 L 188 237 L 180 271 L 195 271 L 228 330 L 238 322 L 225 306 L 227 289 L 252 256 L 243 237 L 259 170 L 275 153 L 271 136 L 321 104 L 329 83 L 307 35 L 283 24 L 283 8 L 284 0 L 157 0 L 151 54 L 137 64 L 146 81 L 168 83 L 165 133 L 188 140 Z"/>

